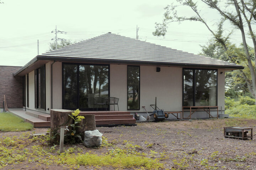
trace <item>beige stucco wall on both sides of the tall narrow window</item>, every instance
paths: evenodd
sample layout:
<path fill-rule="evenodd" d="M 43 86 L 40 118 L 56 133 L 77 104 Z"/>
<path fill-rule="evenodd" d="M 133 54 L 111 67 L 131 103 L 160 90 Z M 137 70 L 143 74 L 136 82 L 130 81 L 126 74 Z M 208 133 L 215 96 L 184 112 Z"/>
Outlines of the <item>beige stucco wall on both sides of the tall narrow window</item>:
<path fill-rule="evenodd" d="M 182 110 L 182 68 L 161 67 L 156 72 L 155 66 L 140 66 L 140 109 L 127 110 L 127 66 L 110 65 L 110 96 L 119 98 L 120 111 L 153 111 L 150 104 L 155 103 L 165 111 Z M 111 108 L 112 110 L 112 108 Z"/>

